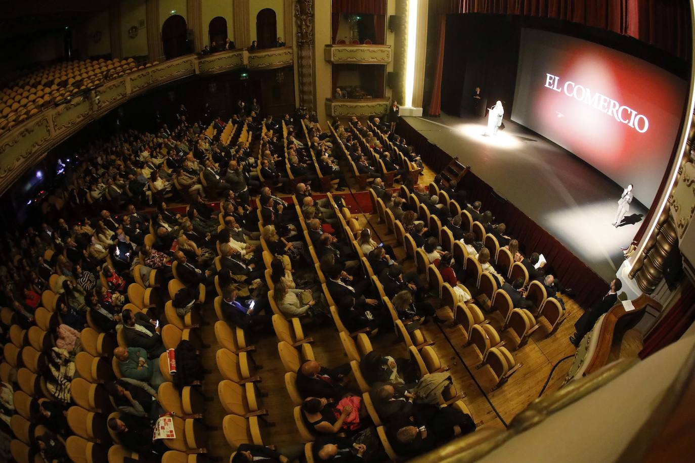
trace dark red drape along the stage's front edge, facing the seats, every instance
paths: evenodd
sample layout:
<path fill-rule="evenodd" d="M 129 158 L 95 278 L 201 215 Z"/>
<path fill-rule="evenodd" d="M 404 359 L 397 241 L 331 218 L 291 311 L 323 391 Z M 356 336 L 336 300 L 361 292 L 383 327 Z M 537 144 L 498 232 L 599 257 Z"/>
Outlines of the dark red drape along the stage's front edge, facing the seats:
<path fill-rule="evenodd" d="M 398 134 L 414 146 L 418 155 L 435 172 L 439 172 L 452 160 L 451 156 L 439 146 L 431 144 L 427 138 L 400 119 Z M 496 219 L 507 225 L 510 236 L 518 239 L 523 252 L 543 253 L 548 260 L 549 271 L 566 287 L 575 290 L 575 301 L 591 306 L 608 292 L 608 284 L 584 262 L 568 251 L 550 233 L 536 224 L 530 217 L 518 210 L 514 204 L 505 201 L 494 193 L 493 188 L 469 171 L 461 179 L 461 185 L 468 192 L 471 201 L 481 201 L 485 210 L 490 210 Z"/>

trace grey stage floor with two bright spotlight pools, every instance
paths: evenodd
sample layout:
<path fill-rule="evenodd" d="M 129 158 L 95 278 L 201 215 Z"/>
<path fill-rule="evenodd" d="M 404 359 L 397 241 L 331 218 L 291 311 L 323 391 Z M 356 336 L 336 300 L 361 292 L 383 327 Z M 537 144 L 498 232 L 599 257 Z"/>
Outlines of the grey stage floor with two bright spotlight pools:
<path fill-rule="evenodd" d="M 486 119 L 404 117 L 413 128 L 511 201 L 569 251 L 610 281 L 647 208 L 632 200 L 628 224 L 614 228 L 623 187 L 575 155 L 505 119 L 496 137 Z M 475 198 L 469 198 L 475 201 Z M 483 209 L 485 205 L 483 204 Z"/>

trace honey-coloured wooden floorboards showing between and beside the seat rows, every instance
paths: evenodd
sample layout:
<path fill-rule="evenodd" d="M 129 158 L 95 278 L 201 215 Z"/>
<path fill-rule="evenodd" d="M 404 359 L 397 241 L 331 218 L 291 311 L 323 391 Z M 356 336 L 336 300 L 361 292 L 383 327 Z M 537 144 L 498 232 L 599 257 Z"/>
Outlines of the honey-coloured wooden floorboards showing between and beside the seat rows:
<path fill-rule="evenodd" d="M 425 175 L 420 176 L 420 183 L 427 185 L 434 178 L 434 172 L 425 168 Z M 357 185 L 352 179 L 348 179 L 352 191 Z M 345 192 L 350 194 L 350 192 Z M 385 244 L 393 246 L 399 260 L 402 260 L 405 251 L 402 246 L 398 246 L 395 235 L 389 235 L 385 224 L 377 224 L 377 214 L 354 214 L 361 226 L 369 226 L 375 233 L 375 240 L 379 239 Z M 412 259 L 403 262 L 404 271 L 414 269 L 415 264 Z M 429 339 L 435 342 L 434 350 L 443 364 L 450 367 L 450 372 L 459 392 L 464 392 L 466 398 L 464 402 L 468 405 L 473 416 L 473 420 L 480 427 L 504 428 L 505 423 L 512 421 L 514 416 L 525 409 L 525 407 L 537 398 L 544 382 L 548 378 L 553 365 L 563 357 L 574 353 L 573 346 L 569 343 L 568 337 L 573 333 L 573 325 L 582 314 L 580 308 L 570 298 L 564 297 L 566 309 L 569 311 L 567 319 L 559 329 L 546 337 L 547 326 L 536 330 L 528 342 L 518 351 L 513 351 L 516 342 L 512 339 L 509 332 L 502 332 L 502 340 L 507 341 L 517 363 L 522 367 L 514 373 L 509 381 L 492 391 L 493 374 L 489 367 L 476 369 L 480 363 L 480 355 L 474 346 L 464 347 L 464 335 L 461 328 L 450 326 L 450 323 L 439 326 L 434 321 L 423 326 L 423 330 Z M 433 299 L 432 303 L 439 303 Z M 435 305 L 439 307 L 439 305 Z M 451 312 L 448 309 L 439 310 L 439 316 L 451 319 Z M 501 323 L 495 321 L 494 315 L 491 324 L 500 331 Z M 206 348 L 202 353 L 204 367 L 212 373 L 206 376 L 204 382 L 204 393 L 212 401 L 206 403 L 205 422 L 211 427 L 209 432 L 208 453 L 212 457 L 220 457 L 227 461 L 231 454 L 231 448 L 224 439 L 222 432 L 222 419 L 225 412 L 220 405 L 218 398 L 218 382 L 222 380 L 215 364 L 215 353 L 218 344 L 214 334 L 214 323 L 216 321 L 215 312 L 212 308 L 212 301 L 206 303 L 204 311 L 206 325 L 202 326 L 202 337 L 210 348 Z M 338 333 L 334 326 L 307 326 L 305 335 L 313 337 L 313 351 L 316 360 L 328 366 L 335 366 L 347 362 L 347 356 L 343 351 L 343 346 L 338 340 Z M 301 442 L 299 432 L 295 426 L 293 417 L 293 404 L 286 392 L 284 385 L 284 367 L 282 366 L 277 351 L 278 340 L 272 328 L 265 332 L 261 337 L 252 339 L 252 344 L 256 346 L 253 354 L 256 363 L 263 368 L 258 371 L 262 382 L 259 384 L 261 392 L 268 396 L 261 398 L 261 407 L 268 410 L 268 421 L 274 426 L 267 428 L 264 436 L 266 445 L 275 444 L 279 448 L 283 446 L 297 444 Z M 396 339 L 393 331 L 381 332 L 375 339 L 372 339 L 375 351 L 393 357 L 407 357 L 407 349 L 404 344 Z M 557 390 L 562 384 L 564 375 L 569 369 L 571 360 L 566 360 L 557 368 L 553 379 L 548 384 L 546 394 Z M 500 419 L 501 417 L 501 419 Z M 503 420 L 503 421 L 502 421 Z"/>

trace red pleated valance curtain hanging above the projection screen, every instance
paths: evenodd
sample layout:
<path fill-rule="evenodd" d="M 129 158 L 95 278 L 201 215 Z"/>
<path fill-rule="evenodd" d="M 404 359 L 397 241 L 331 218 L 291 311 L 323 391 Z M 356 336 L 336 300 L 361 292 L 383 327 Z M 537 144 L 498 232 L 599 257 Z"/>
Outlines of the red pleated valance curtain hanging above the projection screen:
<path fill-rule="evenodd" d="M 689 58 L 690 10 L 685 0 L 458 0 L 457 3 L 459 13 L 530 15 L 578 22 L 630 35 L 680 58 Z"/>

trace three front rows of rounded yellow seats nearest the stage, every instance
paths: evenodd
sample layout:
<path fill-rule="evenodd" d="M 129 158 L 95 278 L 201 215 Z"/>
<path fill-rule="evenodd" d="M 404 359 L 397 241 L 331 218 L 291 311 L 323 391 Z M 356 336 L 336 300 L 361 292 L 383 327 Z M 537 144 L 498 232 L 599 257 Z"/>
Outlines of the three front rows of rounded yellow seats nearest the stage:
<path fill-rule="evenodd" d="M 550 327 L 548 329 L 548 336 L 550 336 L 566 319 L 566 311 L 556 298 L 549 298 L 546 295 L 546 289 L 541 283 L 537 281 L 529 283 L 528 271 L 523 264 L 514 262 L 509 251 L 500 248 L 496 237 L 484 233 L 482 224 L 473 221 L 471 215 L 466 210 L 461 210 L 456 201 L 448 199 L 446 192 L 439 192 L 434 184 L 430 184 L 430 192 L 438 195 L 440 203 L 448 207 L 452 214 L 461 215 L 461 228 L 464 231 L 473 232 L 478 241 L 484 242 L 496 265 L 506 269 L 503 271 L 505 278 L 510 280 L 522 278 L 524 285 L 528 285 L 526 297 L 532 302 L 532 308 L 530 310 L 514 308 L 509 295 L 498 288 L 496 278 L 482 271 L 480 262 L 474 256 L 468 255 L 466 247 L 461 242 L 453 239 L 450 230 L 441 225 L 439 218 L 431 215 L 424 205 L 420 205 L 414 194 L 409 194 L 405 187 L 401 187 L 400 195 L 409 199 L 411 206 L 418 210 L 420 220 L 428 224 L 433 234 L 439 237 L 442 249 L 452 253 L 455 262 L 461 263 L 465 269 L 466 283 L 475 285 L 477 301 L 483 310 L 475 304 L 475 298 L 471 298 L 468 303 L 459 303 L 455 291 L 448 283 L 443 283 L 439 270 L 430 264 L 423 249 L 417 249 L 414 239 L 405 233 L 400 221 L 394 219 L 391 210 L 385 207 L 384 202 L 377 198 L 373 190 L 370 190 L 373 210 L 379 214 L 379 221 L 386 224 L 388 233 L 395 233 L 395 238 L 404 245 L 407 256 L 414 258 L 418 273 L 427 279 L 430 287 L 439 290 L 441 305 L 450 308 L 453 319 L 464 334 L 466 344 L 476 346 L 482 358 L 480 365 L 488 364 L 491 367 L 495 375 L 495 388 L 499 387 L 521 367 L 521 364 L 514 362 L 514 356 L 505 347 L 505 342 L 500 342 L 498 330 L 500 332 L 507 328 L 512 330 L 518 339 L 515 346 L 518 349 L 528 340 L 532 332 L 540 328 L 541 319 L 545 319 Z M 471 296 L 471 291 L 465 285 L 461 283 L 458 285 Z M 484 314 L 489 315 L 489 318 L 485 319 Z M 496 316 L 498 321 L 495 321 L 494 314 L 498 314 Z M 498 326 L 498 330 L 493 328 L 491 321 Z"/>

